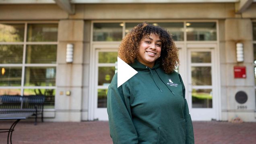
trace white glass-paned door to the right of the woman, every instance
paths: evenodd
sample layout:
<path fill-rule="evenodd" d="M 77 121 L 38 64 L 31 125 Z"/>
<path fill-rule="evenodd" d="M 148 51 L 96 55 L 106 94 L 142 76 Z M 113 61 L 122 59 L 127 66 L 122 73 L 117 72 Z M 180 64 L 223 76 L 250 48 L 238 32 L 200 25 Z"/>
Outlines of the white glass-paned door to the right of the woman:
<path fill-rule="evenodd" d="M 216 119 L 214 49 L 188 47 L 188 96 L 192 120 Z"/>

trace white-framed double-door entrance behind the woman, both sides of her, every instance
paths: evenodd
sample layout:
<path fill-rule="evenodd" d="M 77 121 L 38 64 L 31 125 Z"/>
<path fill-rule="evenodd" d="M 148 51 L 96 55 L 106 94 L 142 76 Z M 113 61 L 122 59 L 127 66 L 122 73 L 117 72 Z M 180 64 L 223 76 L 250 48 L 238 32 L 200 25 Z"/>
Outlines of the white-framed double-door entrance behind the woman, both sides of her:
<path fill-rule="evenodd" d="M 108 120 L 107 88 L 117 70 L 117 44 L 93 45 L 89 119 Z M 178 43 L 181 74 L 192 120 L 218 119 L 216 44 Z"/>

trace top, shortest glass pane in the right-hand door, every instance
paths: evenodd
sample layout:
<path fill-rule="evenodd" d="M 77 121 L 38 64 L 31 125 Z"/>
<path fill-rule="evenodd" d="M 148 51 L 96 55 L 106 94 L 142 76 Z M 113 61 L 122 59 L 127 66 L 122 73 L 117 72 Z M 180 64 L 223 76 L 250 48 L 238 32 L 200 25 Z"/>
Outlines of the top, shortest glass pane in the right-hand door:
<path fill-rule="evenodd" d="M 192 63 L 211 63 L 211 52 L 191 52 Z"/>

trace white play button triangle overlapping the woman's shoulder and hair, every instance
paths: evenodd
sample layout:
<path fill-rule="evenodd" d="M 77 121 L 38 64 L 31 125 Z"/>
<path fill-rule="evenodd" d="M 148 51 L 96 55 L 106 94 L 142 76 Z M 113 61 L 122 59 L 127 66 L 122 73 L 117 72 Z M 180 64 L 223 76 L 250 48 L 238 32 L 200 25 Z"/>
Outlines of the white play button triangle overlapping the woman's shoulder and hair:
<path fill-rule="evenodd" d="M 118 87 L 138 72 L 118 57 Z"/>

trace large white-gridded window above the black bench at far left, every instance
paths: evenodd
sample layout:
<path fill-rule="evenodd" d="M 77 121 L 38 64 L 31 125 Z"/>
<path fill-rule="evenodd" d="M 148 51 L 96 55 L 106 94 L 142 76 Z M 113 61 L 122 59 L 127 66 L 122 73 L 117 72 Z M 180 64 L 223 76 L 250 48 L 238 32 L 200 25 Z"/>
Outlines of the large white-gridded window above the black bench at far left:
<path fill-rule="evenodd" d="M 54 108 L 57 36 L 57 23 L 0 23 L 0 95 L 45 95 Z"/>

